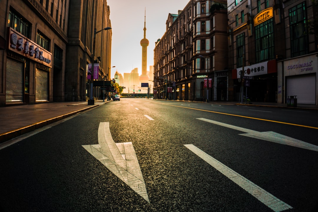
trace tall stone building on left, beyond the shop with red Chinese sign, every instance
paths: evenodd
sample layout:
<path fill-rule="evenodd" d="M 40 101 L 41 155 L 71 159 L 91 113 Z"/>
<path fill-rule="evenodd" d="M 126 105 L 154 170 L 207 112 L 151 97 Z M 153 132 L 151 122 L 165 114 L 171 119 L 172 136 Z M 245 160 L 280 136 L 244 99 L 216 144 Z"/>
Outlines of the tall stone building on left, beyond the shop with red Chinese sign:
<path fill-rule="evenodd" d="M 112 30 L 103 30 L 111 27 L 110 7 L 106 0 L 76 0 L 70 2 L 70 7 L 72 10 L 69 14 L 69 38 L 66 48 L 65 100 L 86 101 L 90 98 L 91 89 L 91 81 L 87 79 L 88 64 L 100 58 L 98 76 L 95 80 L 111 79 Z M 94 29 L 97 32 L 95 44 Z M 92 58 L 93 53 L 94 58 Z M 99 86 L 94 86 L 93 98 L 100 98 L 101 92 L 104 91 Z"/>

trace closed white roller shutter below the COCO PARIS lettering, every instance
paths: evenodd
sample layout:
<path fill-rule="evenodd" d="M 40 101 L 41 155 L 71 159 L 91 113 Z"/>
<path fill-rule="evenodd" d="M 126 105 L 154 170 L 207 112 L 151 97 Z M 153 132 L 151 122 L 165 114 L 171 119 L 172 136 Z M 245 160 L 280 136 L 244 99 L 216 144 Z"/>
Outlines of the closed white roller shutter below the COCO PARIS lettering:
<path fill-rule="evenodd" d="M 297 96 L 297 104 L 316 104 L 316 75 L 287 77 L 287 97 Z"/>

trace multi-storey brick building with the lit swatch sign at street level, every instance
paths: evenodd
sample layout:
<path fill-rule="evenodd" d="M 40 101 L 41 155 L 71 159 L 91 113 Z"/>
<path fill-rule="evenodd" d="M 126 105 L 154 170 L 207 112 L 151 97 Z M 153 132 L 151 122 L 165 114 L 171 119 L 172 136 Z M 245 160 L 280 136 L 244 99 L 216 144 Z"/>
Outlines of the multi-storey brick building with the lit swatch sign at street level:
<path fill-rule="evenodd" d="M 169 14 L 154 49 L 155 98 L 229 100 L 226 1 L 191 0 Z"/>

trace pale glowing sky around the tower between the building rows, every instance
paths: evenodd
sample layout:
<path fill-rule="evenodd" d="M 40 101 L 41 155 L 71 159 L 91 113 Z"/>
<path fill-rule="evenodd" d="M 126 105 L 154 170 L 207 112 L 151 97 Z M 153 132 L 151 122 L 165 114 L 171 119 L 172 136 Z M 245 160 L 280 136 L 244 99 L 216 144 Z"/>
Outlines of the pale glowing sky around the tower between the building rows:
<path fill-rule="evenodd" d="M 110 20 L 112 24 L 112 60 L 111 78 L 116 71 L 122 75 L 138 68 L 142 72 L 142 46 L 143 27 L 146 8 L 146 38 L 147 71 L 149 65 L 154 65 L 155 42 L 161 39 L 166 31 L 166 21 L 169 13 L 177 14 L 178 10 L 189 3 L 190 0 L 107 0 L 110 7 Z"/>

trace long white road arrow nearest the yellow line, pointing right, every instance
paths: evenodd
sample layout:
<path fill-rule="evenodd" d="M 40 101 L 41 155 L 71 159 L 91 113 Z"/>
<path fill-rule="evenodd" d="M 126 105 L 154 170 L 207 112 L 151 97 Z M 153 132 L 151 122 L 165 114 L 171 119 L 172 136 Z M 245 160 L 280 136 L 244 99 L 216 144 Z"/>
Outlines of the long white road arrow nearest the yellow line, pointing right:
<path fill-rule="evenodd" d="M 222 122 L 218 122 L 218 121 L 213 121 L 213 120 L 209 120 L 209 119 L 204 119 L 204 118 L 198 118 L 198 120 L 202 120 L 202 121 L 206 121 L 212 124 L 217 124 L 223 127 L 228 127 L 228 128 L 232 128 L 234 130 L 239 130 L 242 132 L 245 132 L 244 134 L 239 134 L 239 135 L 244 135 L 247 137 L 251 137 L 251 138 L 257 138 L 260 140 L 267 140 L 267 141 L 271 141 L 274 143 L 279 143 L 279 144 L 284 144 L 284 145 L 289 145 L 289 146 L 293 146 L 293 147 L 299 147 L 302 149 L 308 149 L 308 150 L 312 150 L 312 151 L 316 151 L 318 152 L 318 146 L 315 146 L 313 144 L 301 141 L 301 140 L 297 140 L 291 137 L 288 137 L 286 135 L 282 135 L 279 133 L 275 133 L 272 131 L 269 132 L 258 132 L 255 130 L 250 130 L 250 129 L 246 129 L 243 127 L 237 127 L 234 125 L 229 125 L 229 124 L 225 124 Z"/>

